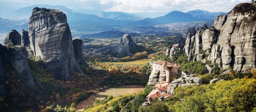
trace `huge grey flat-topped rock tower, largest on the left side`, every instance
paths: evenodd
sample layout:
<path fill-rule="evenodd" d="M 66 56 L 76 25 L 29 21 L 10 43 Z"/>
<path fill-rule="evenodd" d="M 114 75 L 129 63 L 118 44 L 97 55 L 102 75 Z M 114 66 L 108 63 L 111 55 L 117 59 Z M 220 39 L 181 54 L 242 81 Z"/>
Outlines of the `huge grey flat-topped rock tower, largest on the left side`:
<path fill-rule="evenodd" d="M 83 73 L 75 60 L 66 14 L 55 9 L 34 8 L 28 34 L 34 55 L 47 63 L 55 78 L 67 80 L 69 71 Z"/>

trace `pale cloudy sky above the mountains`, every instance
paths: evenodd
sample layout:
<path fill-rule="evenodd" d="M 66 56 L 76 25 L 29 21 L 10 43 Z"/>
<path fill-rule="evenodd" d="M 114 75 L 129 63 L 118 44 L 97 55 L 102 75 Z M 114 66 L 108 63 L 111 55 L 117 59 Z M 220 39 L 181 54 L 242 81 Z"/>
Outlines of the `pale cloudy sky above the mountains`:
<path fill-rule="evenodd" d="M 1 1 L 1 0 L 0 0 Z M 103 11 L 119 11 L 128 13 L 152 13 L 191 10 L 209 12 L 229 12 L 243 2 L 251 0 L 8 0 L 30 5 L 48 4 L 64 5 L 71 9 L 91 9 Z"/>

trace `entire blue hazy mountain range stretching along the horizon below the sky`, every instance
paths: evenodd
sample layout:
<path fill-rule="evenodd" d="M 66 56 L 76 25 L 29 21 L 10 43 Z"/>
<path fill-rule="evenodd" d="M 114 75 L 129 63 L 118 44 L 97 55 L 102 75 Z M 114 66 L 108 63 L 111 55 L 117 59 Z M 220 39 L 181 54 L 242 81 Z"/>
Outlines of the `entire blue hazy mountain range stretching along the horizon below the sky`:
<path fill-rule="evenodd" d="M 4 7 L 8 8 L 8 2 L 4 2 Z M 0 4 L 2 6 L 2 4 Z M 164 16 L 157 18 L 146 18 L 138 16 L 136 14 L 124 13 L 124 12 L 104 12 L 101 10 L 86 10 L 86 9 L 74 9 L 71 10 L 65 6 L 61 5 L 33 5 L 28 7 L 23 7 L 9 13 L 4 13 L 0 15 L 4 20 L 1 21 L 1 32 L 8 32 L 11 29 L 21 30 L 27 29 L 27 22 L 29 17 L 32 14 L 32 10 L 35 7 L 45 7 L 50 9 L 58 9 L 63 11 L 67 15 L 68 24 L 72 31 L 117 31 L 126 27 L 141 26 L 141 25 L 162 25 L 169 23 L 178 23 L 178 22 L 197 22 L 197 21 L 208 21 L 215 18 L 215 15 L 223 13 L 211 13 L 207 11 L 195 10 L 189 11 L 187 13 L 180 11 L 172 11 Z M 11 9 L 10 9 L 11 10 Z M 0 11 L 4 11 L 3 7 L 0 7 Z M 83 12 L 83 13 L 81 13 Z M 87 14 L 85 14 L 87 13 Z M 96 16 L 97 15 L 97 16 Z M 8 18 L 8 19 L 6 19 Z M 25 20 L 27 21 L 25 21 Z M 143 20 L 141 20 L 143 19 Z M 135 21 L 139 20 L 139 21 Z M 9 23 L 8 23 L 9 21 Z"/>

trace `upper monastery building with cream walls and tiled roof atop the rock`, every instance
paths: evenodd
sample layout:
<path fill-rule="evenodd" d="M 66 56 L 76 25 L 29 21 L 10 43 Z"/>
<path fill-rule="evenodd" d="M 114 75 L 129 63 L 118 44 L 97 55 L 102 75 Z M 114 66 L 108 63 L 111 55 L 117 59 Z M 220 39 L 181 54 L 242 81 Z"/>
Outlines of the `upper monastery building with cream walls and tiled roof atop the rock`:
<path fill-rule="evenodd" d="M 171 82 L 173 78 L 176 78 L 180 72 L 180 65 L 178 64 L 172 64 L 168 61 L 158 60 L 152 62 L 152 71 L 155 72 L 157 70 L 159 71 L 165 71 L 165 81 Z M 160 74 L 161 75 L 161 74 Z"/>

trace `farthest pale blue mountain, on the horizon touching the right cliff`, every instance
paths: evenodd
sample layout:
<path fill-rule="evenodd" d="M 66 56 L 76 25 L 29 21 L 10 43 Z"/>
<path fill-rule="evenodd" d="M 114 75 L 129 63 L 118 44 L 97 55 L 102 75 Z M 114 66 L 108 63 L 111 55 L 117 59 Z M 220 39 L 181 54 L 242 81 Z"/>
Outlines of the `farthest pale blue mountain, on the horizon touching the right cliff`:
<path fill-rule="evenodd" d="M 208 11 L 203 11 L 203 10 L 194 10 L 194 11 L 188 11 L 186 12 L 188 14 L 191 14 L 191 16 L 196 17 L 198 19 L 208 19 L 208 20 L 214 20 L 215 17 L 222 15 L 222 14 L 227 14 L 225 12 L 208 12 Z"/>

